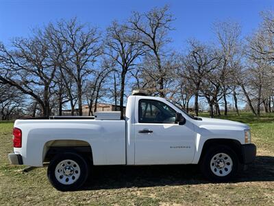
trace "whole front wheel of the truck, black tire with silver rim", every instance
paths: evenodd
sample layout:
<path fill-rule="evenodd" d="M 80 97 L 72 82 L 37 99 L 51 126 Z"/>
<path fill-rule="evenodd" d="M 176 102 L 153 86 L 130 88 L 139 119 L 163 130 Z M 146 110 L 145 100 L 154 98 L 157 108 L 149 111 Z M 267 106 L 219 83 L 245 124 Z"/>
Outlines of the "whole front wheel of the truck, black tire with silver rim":
<path fill-rule="evenodd" d="M 203 176 L 214 183 L 231 181 L 237 174 L 239 161 L 236 153 L 228 146 L 214 146 L 199 163 Z"/>

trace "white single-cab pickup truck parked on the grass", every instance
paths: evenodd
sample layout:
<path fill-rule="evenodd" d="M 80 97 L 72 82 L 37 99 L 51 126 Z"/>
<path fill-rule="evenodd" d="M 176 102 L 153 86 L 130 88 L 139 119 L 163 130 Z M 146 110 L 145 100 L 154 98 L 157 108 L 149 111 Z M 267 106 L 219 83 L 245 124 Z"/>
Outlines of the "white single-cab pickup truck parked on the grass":
<path fill-rule="evenodd" d="M 49 181 L 62 191 L 81 187 L 91 165 L 199 164 L 210 181 L 222 182 L 256 157 L 246 124 L 192 117 L 164 98 L 145 95 L 129 96 L 125 119 L 116 113 L 17 119 L 13 136 L 10 162 L 49 163 Z"/>

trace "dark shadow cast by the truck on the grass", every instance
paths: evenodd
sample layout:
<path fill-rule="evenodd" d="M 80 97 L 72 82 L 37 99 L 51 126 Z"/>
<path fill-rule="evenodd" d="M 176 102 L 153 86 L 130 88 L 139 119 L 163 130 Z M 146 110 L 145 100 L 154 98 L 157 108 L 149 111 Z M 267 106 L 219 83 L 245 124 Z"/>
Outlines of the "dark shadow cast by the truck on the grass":
<path fill-rule="evenodd" d="M 258 156 L 232 183 L 274 181 L 274 157 Z M 197 165 L 97 166 L 82 190 L 209 183 Z"/>

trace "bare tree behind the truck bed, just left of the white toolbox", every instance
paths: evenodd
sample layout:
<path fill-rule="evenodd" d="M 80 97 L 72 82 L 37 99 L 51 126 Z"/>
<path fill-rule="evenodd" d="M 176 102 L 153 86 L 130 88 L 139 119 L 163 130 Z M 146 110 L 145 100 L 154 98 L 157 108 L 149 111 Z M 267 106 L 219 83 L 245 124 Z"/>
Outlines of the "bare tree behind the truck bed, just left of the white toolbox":
<path fill-rule="evenodd" d="M 100 33 L 96 27 L 79 23 L 76 18 L 50 25 L 50 33 L 53 45 L 58 45 L 61 54 L 59 65 L 64 69 L 63 76 L 66 72 L 75 81 L 79 115 L 82 115 L 83 85 L 101 55 Z M 66 89 L 70 89 L 68 84 Z"/>

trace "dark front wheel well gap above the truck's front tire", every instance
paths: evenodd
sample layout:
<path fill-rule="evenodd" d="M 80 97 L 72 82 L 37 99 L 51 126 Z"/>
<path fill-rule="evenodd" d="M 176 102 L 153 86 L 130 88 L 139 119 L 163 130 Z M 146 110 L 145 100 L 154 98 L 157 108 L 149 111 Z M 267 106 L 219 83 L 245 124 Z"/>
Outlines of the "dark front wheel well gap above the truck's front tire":
<path fill-rule="evenodd" d="M 201 157 L 205 155 L 206 151 L 209 148 L 216 145 L 225 145 L 225 146 L 229 146 L 229 148 L 232 148 L 232 150 L 234 150 L 234 152 L 238 156 L 239 161 L 242 163 L 241 144 L 240 144 L 240 141 L 236 139 L 208 139 L 203 144 L 203 150 L 201 151 L 201 156 L 199 161 L 201 161 Z"/>

